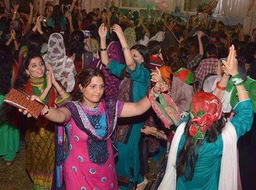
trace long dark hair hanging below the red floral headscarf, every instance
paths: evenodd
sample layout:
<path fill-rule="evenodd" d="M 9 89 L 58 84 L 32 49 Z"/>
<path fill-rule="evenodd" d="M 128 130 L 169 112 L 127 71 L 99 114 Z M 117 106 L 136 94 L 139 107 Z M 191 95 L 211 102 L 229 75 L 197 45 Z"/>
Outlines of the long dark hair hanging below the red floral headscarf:
<path fill-rule="evenodd" d="M 189 134 L 189 128 L 192 124 L 192 119 L 189 118 L 186 123 L 184 135 L 185 135 L 185 143 L 182 149 L 178 153 L 178 158 L 176 162 L 176 170 L 177 176 L 184 175 L 185 180 L 191 180 L 193 177 L 193 170 L 195 168 L 195 164 L 197 161 L 199 148 L 203 140 L 198 140 L 196 142 L 195 147 L 193 146 L 193 137 Z M 221 134 L 222 129 L 226 125 L 223 117 L 218 119 L 211 125 L 210 128 L 207 129 L 205 134 L 205 139 L 207 142 L 214 142 L 217 139 L 217 135 Z"/>

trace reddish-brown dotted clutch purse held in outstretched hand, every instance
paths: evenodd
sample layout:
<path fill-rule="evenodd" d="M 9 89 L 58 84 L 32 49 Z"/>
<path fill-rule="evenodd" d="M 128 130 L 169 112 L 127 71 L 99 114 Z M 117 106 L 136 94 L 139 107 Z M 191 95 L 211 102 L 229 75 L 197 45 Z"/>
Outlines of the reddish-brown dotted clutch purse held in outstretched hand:
<path fill-rule="evenodd" d="M 28 96 L 28 94 L 15 88 L 11 88 L 10 92 L 4 98 L 4 102 L 22 110 L 27 110 L 30 115 L 36 119 L 39 117 L 43 107 L 45 106 L 37 100 L 30 100 L 30 96 Z"/>

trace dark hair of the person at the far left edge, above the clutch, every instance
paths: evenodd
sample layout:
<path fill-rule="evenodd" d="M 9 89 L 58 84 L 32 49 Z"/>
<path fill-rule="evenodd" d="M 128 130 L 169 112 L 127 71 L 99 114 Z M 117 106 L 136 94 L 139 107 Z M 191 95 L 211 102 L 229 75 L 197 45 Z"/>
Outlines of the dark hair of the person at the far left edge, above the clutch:
<path fill-rule="evenodd" d="M 13 53 L 7 45 L 0 45 L 0 94 L 5 95 L 11 87 L 13 75 Z"/>

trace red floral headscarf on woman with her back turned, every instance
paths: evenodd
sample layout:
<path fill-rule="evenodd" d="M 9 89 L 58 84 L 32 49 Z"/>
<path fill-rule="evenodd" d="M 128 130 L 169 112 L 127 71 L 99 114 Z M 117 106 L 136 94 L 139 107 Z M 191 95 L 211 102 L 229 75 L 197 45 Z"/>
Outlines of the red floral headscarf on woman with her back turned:
<path fill-rule="evenodd" d="M 192 124 L 189 134 L 195 145 L 198 139 L 203 139 L 205 132 L 221 117 L 221 100 L 209 92 L 197 92 L 190 104 Z"/>

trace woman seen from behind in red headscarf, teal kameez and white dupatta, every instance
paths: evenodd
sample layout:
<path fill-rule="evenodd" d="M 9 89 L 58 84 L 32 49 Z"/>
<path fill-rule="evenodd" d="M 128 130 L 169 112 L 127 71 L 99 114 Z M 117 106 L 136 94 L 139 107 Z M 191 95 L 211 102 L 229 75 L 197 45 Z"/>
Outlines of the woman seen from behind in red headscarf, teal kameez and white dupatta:
<path fill-rule="evenodd" d="M 220 99 L 208 92 L 197 92 L 191 101 L 188 122 L 180 122 L 173 137 L 159 190 L 238 189 L 236 143 L 251 128 L 253 111 L 238 74 L 234 47 L 224 66 L 238 91 L 235 115 L 225 122 Z M 219 85 L 223 86 L 221 82 Z"/>

